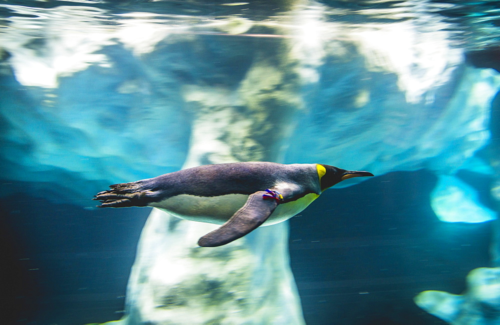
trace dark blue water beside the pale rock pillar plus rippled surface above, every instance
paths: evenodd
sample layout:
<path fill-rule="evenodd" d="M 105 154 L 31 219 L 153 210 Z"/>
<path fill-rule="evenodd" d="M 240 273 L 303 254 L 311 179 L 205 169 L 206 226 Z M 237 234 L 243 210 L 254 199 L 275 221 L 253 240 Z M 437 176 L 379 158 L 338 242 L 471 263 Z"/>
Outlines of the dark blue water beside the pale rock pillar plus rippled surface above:
<path fill-rule="evenodd" d="M 5 1 L 27 6 L 24 13 L 0 6 L 0 28 L 12 16 L 36 18 L 37 8 L 86 5 L 112 14 L 146 11 L 176 15 L 226 15 L 273 19 L 285 2 L 251 1 Z M 331 19 L 384 23 L 419 19 L 432 11 L 455 26 L 456 42 L 477 66 L 498 58 L 500 1 L 322 1 Z M 385 12 L 400 7 L 406 16 Z M 242 11 L 242 9 L 245 9 Z M 368 13 L 376 9 L 379 14 Z M 424 23 L 424 22 L 422 22 Z M 1 32 L 1 29 L 0 29 Z M 498 66 L 498 65 L 496 65 Z M 486 176 L 462 172 L 482 202 Z M 438 221 L 429 206 L 435 176 L 423 170 L 392 172 L 347 188 L 329 189 L 290 220 L 291 268 L 308 324 L 444 323 L 411 298 L 433 289 L 460 293 L 473 268 L 491 266 L 491 223 Z M 29 194 L 28 194 L 29 193 Z M 86 210 L 54 204 L 35 190 L 0 199 L 2 323 L 81 324 L 118 319 L 126 282 L 148 208 Z"/>

